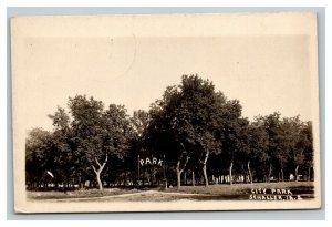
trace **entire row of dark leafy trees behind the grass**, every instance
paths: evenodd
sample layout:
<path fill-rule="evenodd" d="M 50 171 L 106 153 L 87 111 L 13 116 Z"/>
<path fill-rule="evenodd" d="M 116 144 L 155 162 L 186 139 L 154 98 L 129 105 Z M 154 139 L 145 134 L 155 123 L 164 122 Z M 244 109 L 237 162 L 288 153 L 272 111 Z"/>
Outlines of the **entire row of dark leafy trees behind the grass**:
<path fill-rule="evenodd" d="M 51 132 L 29 132 L 28 188 L 313 180 L 310 121 L 276 112 L 250 122 L 238 100 L 198 75 L 184 75 L 132 116 L 86 95 L 69 97 L 68 110 L 49 115 Z"/>

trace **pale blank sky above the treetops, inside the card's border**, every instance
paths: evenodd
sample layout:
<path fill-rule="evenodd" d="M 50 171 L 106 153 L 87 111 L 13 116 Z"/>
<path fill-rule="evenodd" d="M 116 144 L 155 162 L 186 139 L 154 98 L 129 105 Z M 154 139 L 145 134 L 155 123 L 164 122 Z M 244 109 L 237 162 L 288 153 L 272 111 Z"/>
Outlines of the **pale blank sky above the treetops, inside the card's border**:
<path fill-rule="evenodd" d="M 52 128 L 46 115 L 76 94 L 128 114 L 148 110 L 167 85 L 196 73 L 238 99 L 250 120 L 274 111 L 311 120 L 305 35 L 31 38 L 25 49 L 28 128 Z"/>

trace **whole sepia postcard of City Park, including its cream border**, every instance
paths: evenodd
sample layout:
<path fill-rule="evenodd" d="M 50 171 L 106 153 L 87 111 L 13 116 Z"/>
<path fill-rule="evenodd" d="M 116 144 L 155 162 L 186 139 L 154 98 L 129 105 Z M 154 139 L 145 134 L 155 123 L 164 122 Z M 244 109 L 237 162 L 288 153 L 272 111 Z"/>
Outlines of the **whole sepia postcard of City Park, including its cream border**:
<path fill-rule="evenodd" d="M 314 12 L 10 27 L 17 213 L 320 208 Z"/>

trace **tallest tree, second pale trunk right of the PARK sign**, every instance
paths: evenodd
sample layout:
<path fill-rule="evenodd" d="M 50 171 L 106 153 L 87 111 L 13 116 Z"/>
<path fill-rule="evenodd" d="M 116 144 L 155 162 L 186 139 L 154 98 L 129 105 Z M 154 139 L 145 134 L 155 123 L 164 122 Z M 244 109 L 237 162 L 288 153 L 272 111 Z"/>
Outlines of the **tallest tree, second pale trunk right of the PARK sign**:
<path fill-rule="evenodd" d="M 222 123 L 222 107 L 226 97 L 215 92 L 214 84 L 198 75 L 184 75 L 179 85 L 181 93 L 178 111 L 186 118 L 180 120 L 188 124 L 191 144 L 199 152 L 203 165 L 205 185 L 208 186 L 207 162 L 211 153 L 220 152 L 219 126 Z"/>

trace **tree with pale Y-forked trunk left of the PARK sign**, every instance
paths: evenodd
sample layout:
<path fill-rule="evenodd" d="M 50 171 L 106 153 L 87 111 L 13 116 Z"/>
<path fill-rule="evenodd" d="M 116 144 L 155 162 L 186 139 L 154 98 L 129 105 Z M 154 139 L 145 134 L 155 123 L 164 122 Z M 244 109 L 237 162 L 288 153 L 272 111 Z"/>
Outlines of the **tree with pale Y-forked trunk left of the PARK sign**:
<path fill-rule="evenodd" d="M 76 95 L 69 101 L 73 121 L 71 127 L 77 144 L 79 162 L 82 171 L 93 169 L 103 190 L 102 172 L 110 155 L 118 158 L 127 152 L 128 135 L 132 133 L 126 110 L 122 105 L 111 104 L 104 111 L 104 104 L 93 97 Z"/>

